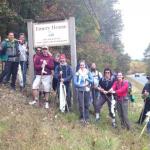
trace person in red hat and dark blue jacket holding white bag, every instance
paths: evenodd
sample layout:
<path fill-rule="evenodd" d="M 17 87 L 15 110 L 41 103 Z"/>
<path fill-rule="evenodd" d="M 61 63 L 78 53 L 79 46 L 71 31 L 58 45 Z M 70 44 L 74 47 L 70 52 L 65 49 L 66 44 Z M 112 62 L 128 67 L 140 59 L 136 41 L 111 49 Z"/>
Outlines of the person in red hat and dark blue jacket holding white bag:
<path fill-rule="evenodd" d="M 66 56 L 64 54 L 60 55 L 59 61 L 60 61 L 60 64 L 57 65 L 55 68 L 54 78 L 58 80 L 58 86 L 57 86 L 58 91 L 60 88 L 60 82 L 62 82 L 65 85 L 67 106 L 68 106 L 68 109 L 71 110 L 70 83 L 73 77 L 73 72 L 72 72 L 71 66 L 67 64 Z M 66 106 L 66 111 L 67 111 L 67 106 Z"/>

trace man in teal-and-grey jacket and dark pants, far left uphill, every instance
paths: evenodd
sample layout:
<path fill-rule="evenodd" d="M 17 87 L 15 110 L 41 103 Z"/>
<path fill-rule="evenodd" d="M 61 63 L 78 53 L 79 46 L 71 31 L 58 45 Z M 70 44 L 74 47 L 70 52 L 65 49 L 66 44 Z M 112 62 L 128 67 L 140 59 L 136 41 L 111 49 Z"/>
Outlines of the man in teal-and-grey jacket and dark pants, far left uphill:
<path fill-rule="evenodd" d="M 5 68 L 0 75 L 0 82 L 8 82 L 10 76 L 11 78 L 11 88 L 15 90 L 16 88 L 16 78 L 19 64 L 19 46 L 18 41 L 14 38 L 14 33 L 8 33 L 8 39 L 2 42 L 2 53 L 6 54 L 8 59 L 5 63 Z"/>

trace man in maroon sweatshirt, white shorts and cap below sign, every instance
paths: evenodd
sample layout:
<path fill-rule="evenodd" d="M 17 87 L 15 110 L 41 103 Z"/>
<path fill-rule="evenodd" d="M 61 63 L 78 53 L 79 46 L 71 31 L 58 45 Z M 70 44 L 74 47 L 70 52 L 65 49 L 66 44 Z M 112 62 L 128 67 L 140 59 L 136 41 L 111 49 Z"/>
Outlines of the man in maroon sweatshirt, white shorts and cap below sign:
<path fill-rule="evenodd" d="M 32 85 L 32 92 L 34 100 L 29 102 L 30 105 L 34 105 L 39 101 L 39 89 L 42 86 L 43 92 L 45 92 L 45 108 L 49 108 L 49 93 L 52 86 L 51 74 L 54 68 L 54 61 L 52 56 L 48 54 L 48 47 L 42 48 L 42 54 L 34 57 L 35 68 L 35 80 Z"/>

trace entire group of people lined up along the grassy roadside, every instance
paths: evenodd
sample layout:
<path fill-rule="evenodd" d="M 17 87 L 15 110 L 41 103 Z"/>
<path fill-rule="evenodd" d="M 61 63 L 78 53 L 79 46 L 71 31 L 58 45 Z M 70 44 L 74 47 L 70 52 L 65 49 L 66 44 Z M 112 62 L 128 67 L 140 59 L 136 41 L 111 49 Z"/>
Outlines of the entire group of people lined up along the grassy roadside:
<path fill-rule="evenodd" d="M 1 42 L 0 56 L 5 56 L 5 67 L 0 74 L 0 83 L 7 83 L 11 77 L 11 88 L 15 90 L 18 65 L 21 66 L 23 86 L 26 85 L 26 73 L 28 62 L 28 46 L 25 35 L 21 33 L 19 39 L 14 38 L 14 33 L 8 33 L 8 39 Z M 79 104 L 80 120 L 89 121 L 89 107 L 93 104 L 95 119 L 100 120 L 102 106 L 107 103 L 109 116 L 112 118 L 112 127 L 116 127 L 116 112 L 120 118 L 121 126 L 130 130 L 131 125 L 128 119 L 129 82 L 124 79 L 122 72 L 113 74 L 110 68 L 105 68 L 103 74 L 97 70 L 96 64 L 91 63 L 90 67 L 81 60 L 74 73 L 71 65 L 67 63 L 65 54 L 56 55 L 53 58 L 47 46 L 37 47 L 33 57 L 35 77 L 32 84 L 33 101 L 30 105 L 38 104 L 39 92 L 44 93 L 45 108 L 49 108 L 49 95 L 53 89 L 62 100 L 62 93 L 65 103 L 61 111 L 72 110 L 72 88 L 75 88 L 76 99 Z M 150 81 L 150 78 L 148 78 Z M 73 82 L 72 82 L 73 81 Z M 142 94 L 146 96 L 145 107 L 141 113 L 138 123 L 145 119 L 146 112 L 150 110 L 149 101 L 150 85 L 146 84 Z M 92 98 L 91 98 L 92 97 Z M 63 101 L 62 100 L 62 101 Z M 60 102 L 62 104 L 62 102 Z M 64 107 L 65 106 L 65 107 Z M 117 111 L 116 111 L 117 110 Z"/>

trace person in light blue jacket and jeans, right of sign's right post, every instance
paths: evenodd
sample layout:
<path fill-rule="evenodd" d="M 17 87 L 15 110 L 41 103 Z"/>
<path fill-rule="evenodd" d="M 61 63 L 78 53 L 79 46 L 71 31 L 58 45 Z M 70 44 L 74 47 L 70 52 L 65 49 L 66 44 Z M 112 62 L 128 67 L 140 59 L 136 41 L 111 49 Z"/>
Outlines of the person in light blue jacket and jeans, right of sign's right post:
<path fill-rule="evenodd" d="M 79 102 L 80 121 L 88 122 L 89 102 L 90 102 L 90 84 L 93 83 L 91 72 L 86 69 L 85 61 L 80 61 L 79 70 L 74 76 L 74 85 L 77 89 L 77 98 Z"/>

